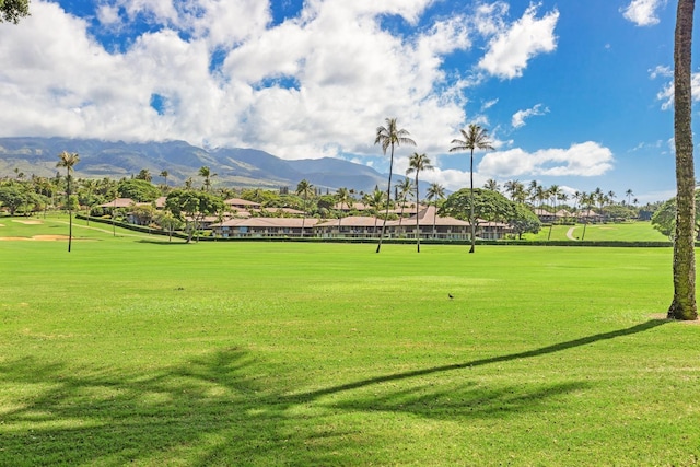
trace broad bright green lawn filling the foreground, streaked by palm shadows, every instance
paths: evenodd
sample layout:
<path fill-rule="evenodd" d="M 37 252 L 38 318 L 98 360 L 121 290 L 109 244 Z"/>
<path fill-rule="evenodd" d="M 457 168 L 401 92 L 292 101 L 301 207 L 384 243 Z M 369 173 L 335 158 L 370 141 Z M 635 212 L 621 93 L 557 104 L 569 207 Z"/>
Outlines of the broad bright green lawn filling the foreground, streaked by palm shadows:
<path fill-rule="evenodd" d="M 67 233 L 14 221 L 0 237 Z M 658 318 L 670 248 L 91 226 L 70 254 L 0 241 L 2 466 L 700 462 L 700 326 Z"/>

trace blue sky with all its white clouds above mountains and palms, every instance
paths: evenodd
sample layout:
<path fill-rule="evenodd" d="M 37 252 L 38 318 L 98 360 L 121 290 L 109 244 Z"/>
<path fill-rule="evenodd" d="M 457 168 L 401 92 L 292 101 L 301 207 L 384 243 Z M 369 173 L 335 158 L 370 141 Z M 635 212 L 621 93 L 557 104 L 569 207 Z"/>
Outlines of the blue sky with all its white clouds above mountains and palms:
<path fill-rule="evenodd" d="M 665 0 L 33 0 L 0 24 L 0 136 L 185 140 L 382 172 L 398 118 L 435 166 L 476 122 L 475 182 L 518 179 L 639 202 L 675 192 Z M 697 42 L 697 40 L 696 40 Z M 696 116 L 697 119 L 697 116 Z M 697 124 L 693 125 L 697 127 Z"/>

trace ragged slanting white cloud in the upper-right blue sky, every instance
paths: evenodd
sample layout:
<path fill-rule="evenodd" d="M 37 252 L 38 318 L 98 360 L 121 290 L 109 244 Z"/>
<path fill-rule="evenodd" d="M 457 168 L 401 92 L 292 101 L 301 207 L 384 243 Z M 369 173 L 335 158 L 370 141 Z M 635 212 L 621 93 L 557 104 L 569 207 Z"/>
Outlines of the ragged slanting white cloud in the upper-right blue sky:
<path fill-rule="evenodd" d="M 479 68 L 502 79 L 513 79 L 523 75 L 533 57 L 555 50 L 559 11 L 552 10 L 541 19 L 536 15 L 537 5 L 530 4 L 515 23 L 508 27 L 500 26 L 479 61 Z"/>

